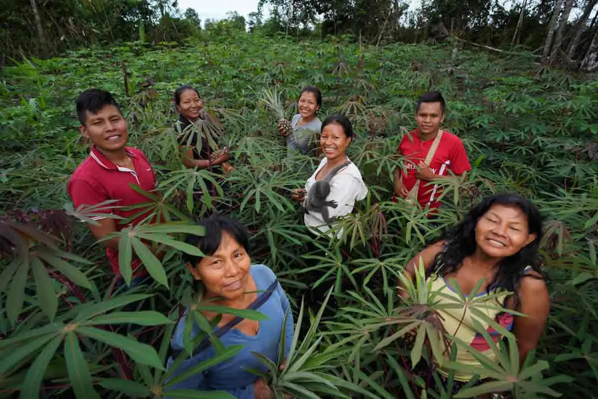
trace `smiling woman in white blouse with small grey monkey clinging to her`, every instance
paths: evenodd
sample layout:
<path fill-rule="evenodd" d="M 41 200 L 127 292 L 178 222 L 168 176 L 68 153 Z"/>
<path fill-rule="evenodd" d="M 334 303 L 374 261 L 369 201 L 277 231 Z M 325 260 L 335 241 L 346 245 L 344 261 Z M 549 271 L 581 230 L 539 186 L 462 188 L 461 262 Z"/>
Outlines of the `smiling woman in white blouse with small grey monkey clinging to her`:
<path fill-rule="evenodd" d="M 315 235 L 332 237 L 329 229 L 334 225 L 334 219 L 351 213 L 355 201 L 364 199 L 368 193 L 359 169 L 346 155 L 351 140 L 353 127 L 349 119 L 340 113 L 328 116 L 322 123 L 320 136 L 325 157 L 307 180 L 305 188 L 295 189 L 292 194 L 306 208 L 303 220 Z M 316 185 L 320 181 L 322 183 Z M 329 192 L 324 182 L 329 184 Z M 338 231 L 337 237 L 342 237 L 342 231 Z"/>

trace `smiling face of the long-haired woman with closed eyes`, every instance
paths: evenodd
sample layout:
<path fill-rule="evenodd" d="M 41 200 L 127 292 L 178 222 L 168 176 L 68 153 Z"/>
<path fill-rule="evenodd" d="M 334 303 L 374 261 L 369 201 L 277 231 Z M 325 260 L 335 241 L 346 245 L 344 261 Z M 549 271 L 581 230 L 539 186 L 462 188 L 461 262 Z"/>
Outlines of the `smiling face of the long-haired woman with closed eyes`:
<path fill-rule="evenodd" d="M 529 232 L 526 215 L 512 205 L 492 205 L 475 226 L 478 250 L 489 257 L 512 256 L 535 238 Z"/>

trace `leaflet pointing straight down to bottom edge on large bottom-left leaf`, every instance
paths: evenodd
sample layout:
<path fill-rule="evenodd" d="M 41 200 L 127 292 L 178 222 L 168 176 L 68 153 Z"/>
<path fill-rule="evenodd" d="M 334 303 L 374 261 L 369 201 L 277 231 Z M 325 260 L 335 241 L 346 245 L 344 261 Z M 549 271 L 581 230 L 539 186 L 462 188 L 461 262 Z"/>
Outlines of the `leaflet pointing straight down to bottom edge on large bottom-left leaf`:
<path fill-rule="evenodd" d="M 89 367 L 79 346 L 77 334 L 68 332 L 65 336 L 65 361 L 69 380 L 78 399 L 100 398 L 93 389 Z"/>

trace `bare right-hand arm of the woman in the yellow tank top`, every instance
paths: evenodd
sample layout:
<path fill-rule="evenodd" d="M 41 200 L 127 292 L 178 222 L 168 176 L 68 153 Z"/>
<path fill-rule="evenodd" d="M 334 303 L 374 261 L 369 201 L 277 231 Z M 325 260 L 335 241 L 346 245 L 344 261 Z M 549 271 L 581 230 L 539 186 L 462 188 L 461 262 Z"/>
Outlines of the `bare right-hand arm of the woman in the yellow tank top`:
<path fill-rule="evenodd" d="M 538 340 L 544 333 L 550 311 L 550 297 L 546 283 L 536 272 L 530 272 L 521 279 L 518 294 L 520 305 L 517 311 L 526 315 L 515 317 L 515 338 L 519 361 L 523 364 L 529 351 L 538 345 Z"/>

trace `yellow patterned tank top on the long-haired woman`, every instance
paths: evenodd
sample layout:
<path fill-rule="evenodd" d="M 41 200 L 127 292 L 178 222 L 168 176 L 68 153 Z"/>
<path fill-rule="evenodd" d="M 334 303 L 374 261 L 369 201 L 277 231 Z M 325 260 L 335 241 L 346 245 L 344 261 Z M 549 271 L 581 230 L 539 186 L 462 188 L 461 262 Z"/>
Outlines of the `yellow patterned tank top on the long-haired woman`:
<path fill-rule="evenodd" d="M 527 273 L 532 268 L 527 266 L 525 272 Z M 432 275 L 432 292 L 436 291 L 438 294 L 436 300 L 440 305 L 441 310 L 438 311 L 440 314 L 443 326 L 446 329 L 446 333 L 451 336 L 456 336 L 463 342 L 468 343 L 472 348 L 477 349 L 484 354 L 491 363 L 498 363 L 498 358 L 495 351 L 492 351 L 490 344 L 486 341 L 484 336 L 478 332 L 477 327 L 474 326 L 474 320 L 481 324 L 482 328 L 486 330 L 490 337 L 492 337 L 493 345 L 498 347 L 499 340 L 502 340 L 502 334 L 496 331 L 486 317 L 490 320 L 496 321 L 505 330 L 511 331 L 513 327 L 513 315 L 502 310 L 502 307 L 510 294 L 509 291 L 502 288 L 496 288 L 490 290 L 489 295 L 487 291 L 476 294 L 477 300 L 471 303 L 471 308 L 482 312 L 486 317 L 477 317 L 471 308 L 462 308 L 461 306 L 454 306 L 455 303 L 462 302 L 453 288 L 450 286 L 449 281 L 445 280 L 444 277 Z M 443 306 L 447 305 L 447 306 Z M 442 340 L 442 338 L 440 338 Z M 445 348 L 444 342 L 440 342 L 440 347 Z M 450 359 L 450 348 L 449 351 L 444 351 L 444 359 L 449 361 Z M 456 362 L 467 364 L 469 366 L 480 366 L 473 355 L 464 349 L 462 346 L 457 344 Z M 438 372 L 442 375 L 449 375 L 450 369 L 444 368 L 443 366 L 438 367 Z M 454 379 L 457 381 L 469 381 L 474 375 L 468 372 L 462 372 L 455 370 Z M 485 376 L 481 376 L 485 377 Z"/>

